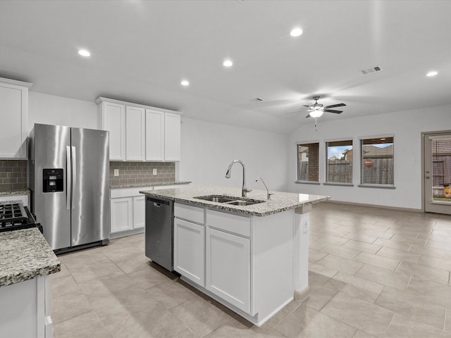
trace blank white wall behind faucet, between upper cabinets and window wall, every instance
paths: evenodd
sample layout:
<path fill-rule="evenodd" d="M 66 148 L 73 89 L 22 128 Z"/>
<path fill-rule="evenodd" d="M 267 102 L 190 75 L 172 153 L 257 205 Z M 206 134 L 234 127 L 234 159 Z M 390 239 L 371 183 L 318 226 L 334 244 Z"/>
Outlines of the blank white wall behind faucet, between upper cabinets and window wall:
<path fill-rule="evenodd" d="M 288 189 L 288 135 L 183 118 L 182 158 L 179 180 L 193 185 L 241 187 L 242 166 L 235 163 L 226 179 L 230 162 L 240 159 L 246 166 L 247 187 L 264 190 L 262 177 L 273 191 Z"/>

